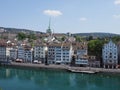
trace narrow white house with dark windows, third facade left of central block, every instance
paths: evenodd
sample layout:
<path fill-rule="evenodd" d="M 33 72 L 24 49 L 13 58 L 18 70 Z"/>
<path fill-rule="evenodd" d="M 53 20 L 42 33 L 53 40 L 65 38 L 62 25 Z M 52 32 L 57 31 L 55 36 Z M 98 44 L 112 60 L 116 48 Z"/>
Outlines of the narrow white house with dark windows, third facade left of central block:
<path fill-rule="evenodd" d="M 30 62 L 33 61 L 33 49 L 31 47 L 25 46 L 24 47 L 24 62 Z"/>

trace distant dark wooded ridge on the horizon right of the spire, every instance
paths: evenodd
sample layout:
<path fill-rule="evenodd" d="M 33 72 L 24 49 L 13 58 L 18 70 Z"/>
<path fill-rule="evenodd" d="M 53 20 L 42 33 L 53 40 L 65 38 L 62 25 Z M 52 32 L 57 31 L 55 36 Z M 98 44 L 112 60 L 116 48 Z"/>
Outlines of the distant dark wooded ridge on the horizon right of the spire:
<path fill-rule="evenodd" d="M 101 32 L 94 32 L 94 33 L 75 33 L 75 34 L 72 34 L 72 35 L 73 35 L 73 36 L 78 35 L 78 36 L 81 36 L 81 37 L 93 36 L 93 37 L 99 37 L 99 38 L 120 36 L 119 34 L 101 33 Z"/>

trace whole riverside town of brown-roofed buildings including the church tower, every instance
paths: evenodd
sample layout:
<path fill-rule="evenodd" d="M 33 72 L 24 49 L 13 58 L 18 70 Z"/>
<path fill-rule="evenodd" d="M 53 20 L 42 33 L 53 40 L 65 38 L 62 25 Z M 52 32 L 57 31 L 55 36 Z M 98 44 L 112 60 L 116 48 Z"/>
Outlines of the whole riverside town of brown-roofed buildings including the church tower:
<path fill-rule="evenodd" d="M 8 34 L 9 40 L 0 40 L 0 62 L 119 68 L 120 44 L 116 45 L 109 39 L 102 46 L 100 59 L 96 55 L 88 54 L 87 41 L 78 42 L 70 33 L 67 33 L 66 36 L 63 35 L 54 34 L 50 25 L 46 33 L 41 36 L 45 37 L 43 41 L 37 39 L 28 42 L 28 38 L 18 40 L 15 37 L 12 38 L 14 35 L 11 36 Z M 62 41 L 60 41 L 60 37 L 62 37 Z"/>

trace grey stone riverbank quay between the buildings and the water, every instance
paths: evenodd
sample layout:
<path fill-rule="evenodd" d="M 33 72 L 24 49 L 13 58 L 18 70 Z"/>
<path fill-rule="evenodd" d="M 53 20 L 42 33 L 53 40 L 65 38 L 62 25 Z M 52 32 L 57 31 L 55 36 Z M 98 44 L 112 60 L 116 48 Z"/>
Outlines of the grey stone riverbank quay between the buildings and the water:
<path fill-rule="evenodd" d="M 7 65 L 9 67 L 15 68 L 29 68 L 29 69 L 57 69 L 57 70 L 79 70 L 80 72 L 84 71 L 91 71 L 95 73 L 118 73 L 120 74 L 120 69 L 104 69 L 104 68 L 92 68 L 92 67 L 70 67 L 68 65 L 44 65 L 44 64 L 31 64 L 31 63 L 16 63 L 12 62 L 11 64 Z"/>

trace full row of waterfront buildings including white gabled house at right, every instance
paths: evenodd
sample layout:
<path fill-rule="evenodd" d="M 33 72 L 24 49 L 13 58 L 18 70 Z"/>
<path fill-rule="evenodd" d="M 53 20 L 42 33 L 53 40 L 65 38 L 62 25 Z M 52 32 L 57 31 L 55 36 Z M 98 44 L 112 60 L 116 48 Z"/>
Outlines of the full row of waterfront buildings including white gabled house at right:
<path fill-rule="evenodd" d="M 33 48 L 26 45 L 12 45 L 0 41 L 0 61 L 40 61 L 48 64 L 72 64 L 76 66 L 91 66 L 104 68 L 116 68 L 119 64 L 120 45 L 111 40 L 102 48 L 102 62 L 96 60 L 96 56 L 88 55 L 87 43 L 62 42 L 36 44 Z M 74 60 L 74 61 L 73 61 Z"/>

